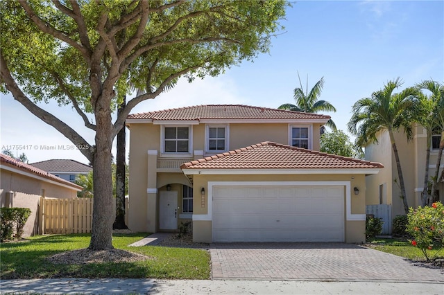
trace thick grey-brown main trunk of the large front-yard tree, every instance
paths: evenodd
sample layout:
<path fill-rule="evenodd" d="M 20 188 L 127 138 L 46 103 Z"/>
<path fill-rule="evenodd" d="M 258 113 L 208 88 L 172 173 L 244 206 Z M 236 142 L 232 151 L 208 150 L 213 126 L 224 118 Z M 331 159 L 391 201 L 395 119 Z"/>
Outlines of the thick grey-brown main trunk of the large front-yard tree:
<path fill-rule="evenodd" d="M 100 102 L 99 102 L 100 104 Z M 113 249 L 112 246 L 112 124 L 111 111 L 105 104 L 96 108 L 96 150 L 92 167 L 94 170 L 94 206 L 92 211 L 92 233 L 89 249 Z"/>

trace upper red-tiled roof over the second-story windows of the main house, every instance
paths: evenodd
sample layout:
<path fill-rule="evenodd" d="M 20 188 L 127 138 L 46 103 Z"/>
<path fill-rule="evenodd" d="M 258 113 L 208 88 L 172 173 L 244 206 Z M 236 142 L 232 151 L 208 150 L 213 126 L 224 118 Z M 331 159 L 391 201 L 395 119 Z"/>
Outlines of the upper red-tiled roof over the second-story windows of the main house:
<path fill-rule="evenodd" d="M 128 119 L 151 120 L 203 120 L 203 119 L 321 119 L 330 116 L 301 111 L 250 107 L 248 105 L 196 105 L 177 109 L 164 109 L 148 113 L 130 114 Z"/>

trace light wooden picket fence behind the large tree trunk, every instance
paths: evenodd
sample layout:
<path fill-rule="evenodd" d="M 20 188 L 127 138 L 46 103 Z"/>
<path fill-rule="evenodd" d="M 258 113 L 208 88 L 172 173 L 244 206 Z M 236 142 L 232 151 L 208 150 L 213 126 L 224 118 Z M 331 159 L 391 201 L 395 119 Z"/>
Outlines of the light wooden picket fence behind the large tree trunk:
<path fill-rule="evenodd" d="M 40 198 L 39 234 L 90 233 L 92 227 L 93 198 L 50 199 Z M 125 199 L 128 212 L 128 199 Z M 115 202 L 113 212 L 115 213 Z M 125 221 L 128 223 L 127 215 Z"/>

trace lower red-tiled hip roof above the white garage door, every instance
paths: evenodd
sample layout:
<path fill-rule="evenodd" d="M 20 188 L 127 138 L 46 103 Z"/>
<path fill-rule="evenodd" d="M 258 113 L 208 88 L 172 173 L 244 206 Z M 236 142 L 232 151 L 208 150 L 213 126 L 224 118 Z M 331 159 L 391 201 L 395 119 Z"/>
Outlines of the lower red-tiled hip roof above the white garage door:
<path fill-rule="evenodd" d="M 352 159 L 266 141 L 183 163 L 186 169 L 366 169 L 381 163 Z M 328 173 L 326 171 L 326 173 Z"/>

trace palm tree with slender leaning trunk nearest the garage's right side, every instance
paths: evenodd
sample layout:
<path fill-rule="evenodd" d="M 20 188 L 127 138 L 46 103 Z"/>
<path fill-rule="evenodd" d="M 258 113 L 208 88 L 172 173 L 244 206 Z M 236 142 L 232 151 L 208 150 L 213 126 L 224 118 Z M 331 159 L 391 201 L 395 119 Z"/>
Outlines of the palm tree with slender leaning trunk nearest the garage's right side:
<path fill-rule="evenodd" d="M 411 123 L 418 89 L 409 87 L 400 93 L 393 93 L 401 85 L 400 78 L 395 81 L 388 81 L 382 90 L 373 92 L 370 98 L 361 98 L 355 102 L 352 107 L 352 118 L 348 122 L 348 130 L 357 136 L 356 143 L 359 146 L 377 142 L 376 136 L 379 132 L 388 132 L 391 147 L 395 154 L 396 168 L 398 169 L 400 197 L 404 204 L 404 211 L 407 214 L 409 213 L 409 204 L 393 132 L 402 127 L 407 139 L 412 138 Z"/>

